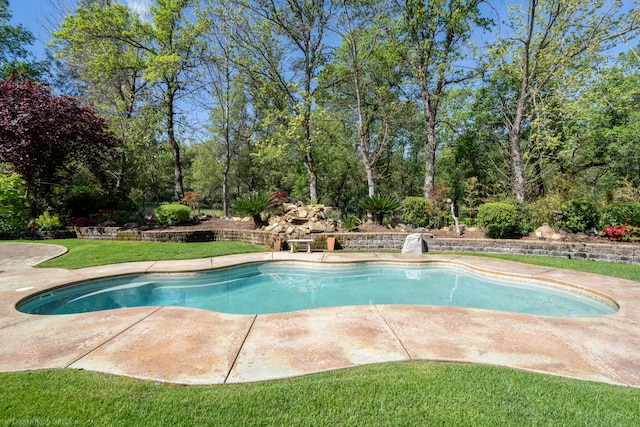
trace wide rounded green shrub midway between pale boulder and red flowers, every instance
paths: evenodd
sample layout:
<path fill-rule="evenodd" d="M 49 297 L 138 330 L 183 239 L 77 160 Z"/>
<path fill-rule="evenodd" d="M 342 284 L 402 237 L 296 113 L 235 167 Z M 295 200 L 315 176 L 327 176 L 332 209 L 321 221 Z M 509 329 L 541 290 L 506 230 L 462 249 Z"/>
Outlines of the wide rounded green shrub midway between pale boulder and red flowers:
<path fill-rule="evenodd" d="M 520 238 L 529 232 L 529 221 L 521 202 L 492 202 L 478 208 L 478 224 L 492 239 Z"/>

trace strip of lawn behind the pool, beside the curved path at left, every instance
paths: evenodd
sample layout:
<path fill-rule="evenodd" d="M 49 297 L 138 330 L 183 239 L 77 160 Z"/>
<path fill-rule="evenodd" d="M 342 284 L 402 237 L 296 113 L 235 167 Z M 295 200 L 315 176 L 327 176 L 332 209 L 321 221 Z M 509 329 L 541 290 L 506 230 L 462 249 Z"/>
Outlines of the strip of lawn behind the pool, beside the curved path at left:
<path fill-rule="evenodd" d="M 66 247 L 66 254 L 39 264 L 38 267 L 76 269 L 131 261 L 197 259 L 247 252 L 263 252 L 261 246 L 240 242 L 158 243 L 112 240 L 46 240 Z"/>

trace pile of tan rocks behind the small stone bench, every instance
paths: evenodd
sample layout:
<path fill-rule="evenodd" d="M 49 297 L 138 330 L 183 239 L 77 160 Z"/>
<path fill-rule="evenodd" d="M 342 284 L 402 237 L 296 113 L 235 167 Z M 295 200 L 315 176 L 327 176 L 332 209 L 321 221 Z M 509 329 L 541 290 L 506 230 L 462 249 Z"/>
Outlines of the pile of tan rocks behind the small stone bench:
<path fill-rule="evenodd" d="M 325 205 L 308 205 L 302 202 L 285 203 L 284 214 L 269 218 L 269 225 L 264 228 L 270 234 L 310 234 L 326 233 L 337 230 L 337 224 L 328 217 L 331 207 Z"/>

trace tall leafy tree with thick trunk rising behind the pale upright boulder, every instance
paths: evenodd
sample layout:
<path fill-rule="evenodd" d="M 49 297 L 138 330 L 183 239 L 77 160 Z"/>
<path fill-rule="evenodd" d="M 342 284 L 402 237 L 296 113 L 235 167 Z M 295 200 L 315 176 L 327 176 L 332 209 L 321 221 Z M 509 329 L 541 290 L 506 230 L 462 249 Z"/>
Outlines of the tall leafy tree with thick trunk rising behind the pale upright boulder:
<path fill-rule="evenodd" d="M 487 29 L 484 0 L 388 0 L 383 16 L 393 17 L 389 34 L 395 48 L 411 66 L 418 87 L 426 127 L 424 195 L 430 198 L 438 147 L 438 114 L 447 89 L 471 78 L 461 63 L 470 53 L 467 45 L 474 31 Z"/>

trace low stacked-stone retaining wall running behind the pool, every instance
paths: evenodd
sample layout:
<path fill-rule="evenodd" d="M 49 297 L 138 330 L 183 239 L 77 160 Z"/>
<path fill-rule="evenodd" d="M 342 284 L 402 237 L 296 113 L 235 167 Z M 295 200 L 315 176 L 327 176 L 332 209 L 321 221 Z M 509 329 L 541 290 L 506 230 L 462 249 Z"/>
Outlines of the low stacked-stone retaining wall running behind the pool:
<path fill-rule="evenodd" d="M 138 240 L 157 242 L 246 242 L 273 248 L 278 235 L 259 230 L 135 231 L 117 227 L 83 227 L 78 238 Z M 335 237 L 338 249 L 400 250 L 408 233 L 314 233 L 289 238 L 313 238 L 312 248 L 325 250 L 327 237 Z M 424 235 L 429 251 L 487 252 L 497 254 L 541 255 L 560 258 L 606 261 L 640 265 L 640 245 L 617 243 L 549 242 L 542 240 L 441 239 Z M 286 240 L 283 248 L 286 249 Z"/>

